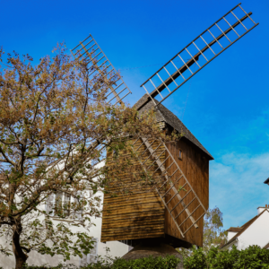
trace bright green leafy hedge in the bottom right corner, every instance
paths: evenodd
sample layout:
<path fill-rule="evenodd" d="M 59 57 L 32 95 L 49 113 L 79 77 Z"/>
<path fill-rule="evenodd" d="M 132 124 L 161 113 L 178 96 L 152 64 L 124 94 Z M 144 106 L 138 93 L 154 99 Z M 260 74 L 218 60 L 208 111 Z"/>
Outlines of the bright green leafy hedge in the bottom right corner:
<path fill-rule="evenodd" d="M 186 269 L 241 269 L 241 268 L 269 268 L 269 250 L 250 246 L 245 250 L 232 249 L 220 251 L 218 247 L 211 247 L 204 253 L 202 247 L 194 249 L 193 255 L 184 260 Z"/>

